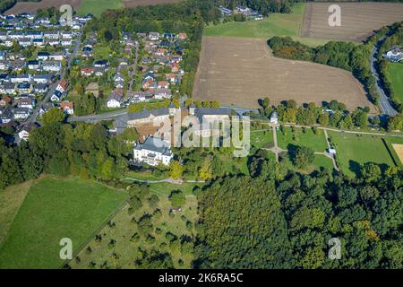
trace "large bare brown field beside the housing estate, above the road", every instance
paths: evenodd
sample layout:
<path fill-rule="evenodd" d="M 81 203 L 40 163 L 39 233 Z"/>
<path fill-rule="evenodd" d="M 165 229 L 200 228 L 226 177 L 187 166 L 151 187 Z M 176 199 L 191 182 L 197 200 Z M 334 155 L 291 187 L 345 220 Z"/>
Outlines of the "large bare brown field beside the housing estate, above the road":
<path fill-rule="evenodd" d="M 270 56 L 264 40 L 204 37 L 193 98 L 257 108 L 257 100 L 299 104 L 339 100 L 347 109 L 373 105 L 363 87 L 347 71 L 327 65 Z"/>

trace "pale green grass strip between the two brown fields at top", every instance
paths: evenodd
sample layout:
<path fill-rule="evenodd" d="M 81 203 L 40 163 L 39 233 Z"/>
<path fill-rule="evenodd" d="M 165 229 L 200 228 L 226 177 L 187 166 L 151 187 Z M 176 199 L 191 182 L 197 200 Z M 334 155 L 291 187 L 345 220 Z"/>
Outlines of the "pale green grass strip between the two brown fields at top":
<path fill-rule="evenodd" d="M 227 22 L 210 25 L 204 29 L 204 36 L 227 36 L 241 38 L 270 39 L 273 36 L 290 36 L 309 46 L 327 43 L 326 39 L 299 37 L 304 18 L 305 4 L 294 4 L 293 13 L 270 13 L 261 21 Z"/>

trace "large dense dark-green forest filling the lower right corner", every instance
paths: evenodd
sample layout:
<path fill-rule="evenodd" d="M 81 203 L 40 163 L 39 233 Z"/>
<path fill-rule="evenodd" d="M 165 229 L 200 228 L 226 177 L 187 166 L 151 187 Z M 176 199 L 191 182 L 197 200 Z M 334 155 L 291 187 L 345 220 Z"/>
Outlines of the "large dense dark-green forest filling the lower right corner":
<path fill-rule="evenodd" d="M 402 267 L 402 170 L 368 163 L 359 178 L 347 179 L 253 161 L 253 178 L 216 178 L 197 193 L 195 267 Z M 331 238 L 341 242 L 340 260 L 328 257 Z"/>

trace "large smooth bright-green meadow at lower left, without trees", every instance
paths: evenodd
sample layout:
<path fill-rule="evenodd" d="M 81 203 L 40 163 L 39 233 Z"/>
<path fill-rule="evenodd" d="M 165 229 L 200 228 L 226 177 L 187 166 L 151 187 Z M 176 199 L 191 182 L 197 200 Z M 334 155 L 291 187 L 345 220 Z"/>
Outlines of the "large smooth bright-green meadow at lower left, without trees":
<path fill-rule="evenodd" d="M 0 268 L 58 268 L 59 240 L 73 253 L 121 206 L 127 194 L 78 178 L 36 181 L 0 247 Z"/>

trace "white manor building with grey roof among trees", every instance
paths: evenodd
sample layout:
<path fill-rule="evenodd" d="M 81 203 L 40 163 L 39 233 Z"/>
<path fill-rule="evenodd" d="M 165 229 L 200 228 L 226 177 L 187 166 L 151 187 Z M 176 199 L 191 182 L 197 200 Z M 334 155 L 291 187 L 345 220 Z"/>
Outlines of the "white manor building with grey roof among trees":
<path fill-rule="evenodd" d="M 163 164 L 168 166 L 174 157 L 170 144 L 157 137 L 149 136 L 144 143 L 136 143 L 133 149 L 133 159 L 152 166 Z"/>

